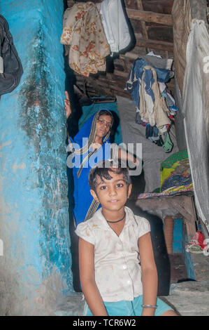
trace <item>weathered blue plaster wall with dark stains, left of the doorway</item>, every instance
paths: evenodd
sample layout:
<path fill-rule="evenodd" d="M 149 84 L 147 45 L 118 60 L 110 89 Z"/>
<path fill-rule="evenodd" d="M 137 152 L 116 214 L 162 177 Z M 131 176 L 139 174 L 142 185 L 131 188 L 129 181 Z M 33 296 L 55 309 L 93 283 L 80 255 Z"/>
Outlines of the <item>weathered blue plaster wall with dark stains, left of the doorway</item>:
<path fill-rule="evenodd" d="M 53 315 L 73 291 L 62 0 L 1 0 L 24 74 L 0 100 L 0 315 Z"/>

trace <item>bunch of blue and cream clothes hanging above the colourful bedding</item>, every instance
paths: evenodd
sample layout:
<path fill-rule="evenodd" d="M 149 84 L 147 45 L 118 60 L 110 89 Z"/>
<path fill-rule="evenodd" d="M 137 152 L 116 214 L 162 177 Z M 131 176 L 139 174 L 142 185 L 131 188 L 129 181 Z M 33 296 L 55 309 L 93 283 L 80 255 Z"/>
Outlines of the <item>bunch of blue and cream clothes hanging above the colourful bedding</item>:
<path fill-rule="evenodd" d="M 168 133 L 171 119 L 178 110 L 166 86 L 174 75 L 173 60 L 150 52 L 140 55 L 129 72 L 125 90 L 136 105 L 136 122 L 146 127 L 146 138 L 171 152 L 173 143 Z"/>

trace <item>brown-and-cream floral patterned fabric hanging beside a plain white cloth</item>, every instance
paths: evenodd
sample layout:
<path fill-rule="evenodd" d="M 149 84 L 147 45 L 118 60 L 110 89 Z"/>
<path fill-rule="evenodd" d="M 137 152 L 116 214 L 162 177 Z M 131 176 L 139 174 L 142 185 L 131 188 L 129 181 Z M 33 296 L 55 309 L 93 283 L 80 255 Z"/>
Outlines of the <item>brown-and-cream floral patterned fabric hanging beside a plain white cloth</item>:
<path fill-rule="evenodd" d="M 106 70 L 110 47 L 98 8 L 92 2 L 75 4 L 64 12 L 61 44 L 70 45 L 69 65 L 85 77 Z"/>

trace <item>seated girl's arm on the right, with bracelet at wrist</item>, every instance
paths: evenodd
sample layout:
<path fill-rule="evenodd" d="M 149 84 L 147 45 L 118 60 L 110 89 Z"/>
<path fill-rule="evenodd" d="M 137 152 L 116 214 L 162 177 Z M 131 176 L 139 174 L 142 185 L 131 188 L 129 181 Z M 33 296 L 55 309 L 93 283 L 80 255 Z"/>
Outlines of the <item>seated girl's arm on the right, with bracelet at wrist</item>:
<path fill-rule="evenodd" d="M 156 305 L 157 268 L 154 261 L 150 232 L 138 239 L 138 249 L 143 284 L 143 304 Z M 142 316 L 152 316 L 154 312 L 154 308 L 143 308 Z"/>

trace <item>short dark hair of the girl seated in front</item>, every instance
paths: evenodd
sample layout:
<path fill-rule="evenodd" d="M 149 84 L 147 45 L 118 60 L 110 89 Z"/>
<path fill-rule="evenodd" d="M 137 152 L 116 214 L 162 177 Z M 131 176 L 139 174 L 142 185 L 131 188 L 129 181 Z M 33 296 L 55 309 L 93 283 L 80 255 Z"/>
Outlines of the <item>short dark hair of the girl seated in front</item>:
<path fill-rule="evenodd" d="M 106 180 L 111 180 L 112 176 L 110 176 L 110 172 L 116 174 L 122 174 L 127 187 L 131 184 L 131 178 L 129 176 L 129 169 L 127 167 L 121 166 L 121 161 L 118 160 L 118 166 L 113 168 L 113 161 L 104 160 L 100 164 L 97 164 L 89 171 L 89 187 L 90 189 L 96 192 L 96 178 L 99 176 L 101 181 L 103 178 Z"/>

